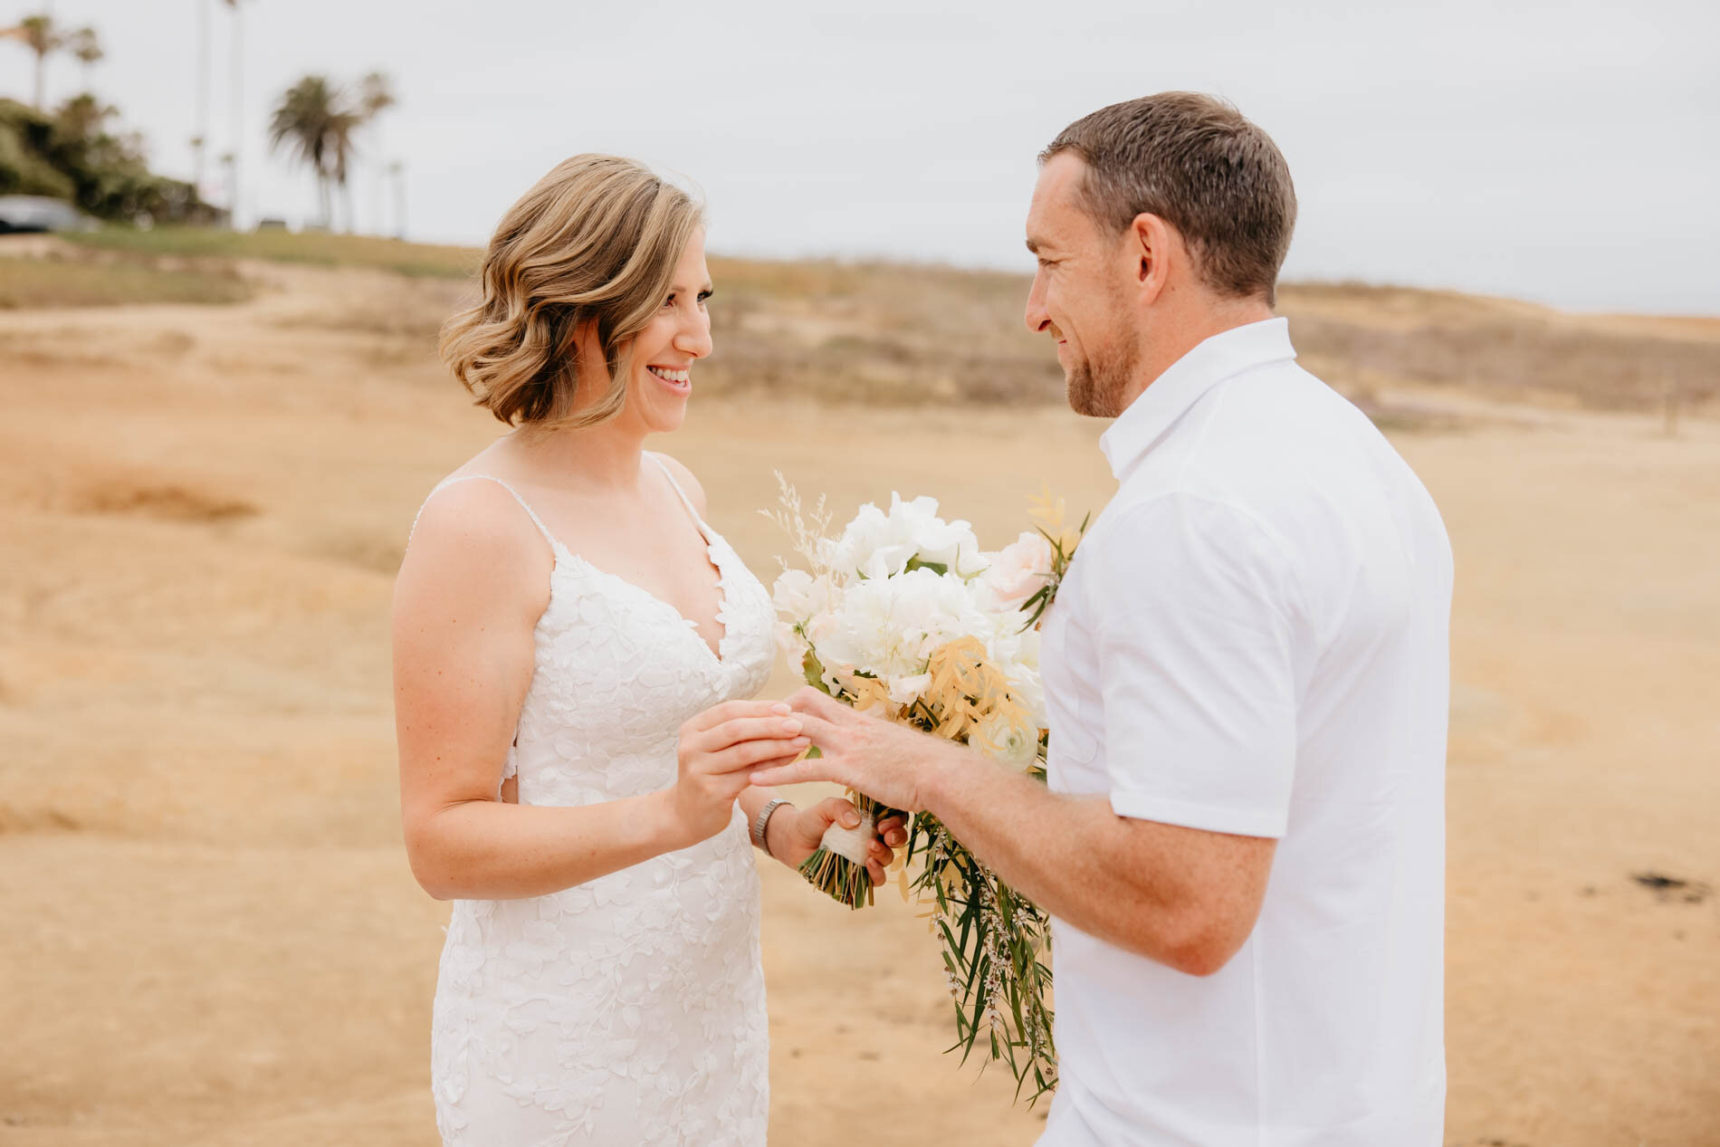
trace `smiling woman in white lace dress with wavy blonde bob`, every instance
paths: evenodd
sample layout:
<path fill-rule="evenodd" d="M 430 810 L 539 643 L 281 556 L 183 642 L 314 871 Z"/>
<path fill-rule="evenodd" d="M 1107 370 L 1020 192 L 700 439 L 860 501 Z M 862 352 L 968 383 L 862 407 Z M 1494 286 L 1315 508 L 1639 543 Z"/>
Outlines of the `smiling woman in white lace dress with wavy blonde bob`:
<path fill-rule="evenodd" d="M 853 807 L 748 788 L 807 746 L 752 698 L 769 595 L 643 449 L 710 354 L 698 206 L 580 155 L 502 218 L 442 335 L 514 426 L 432 490 L 394 597 L 401 817 L 452 899 L 432 1025 L 444 1144 L 765 1142 L 759 875 Z M 900 824 L 882 825 L 901 841 Z M 872 843 L 872 879 L 891 850 Z"/>

